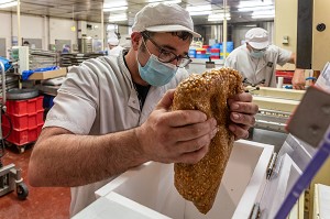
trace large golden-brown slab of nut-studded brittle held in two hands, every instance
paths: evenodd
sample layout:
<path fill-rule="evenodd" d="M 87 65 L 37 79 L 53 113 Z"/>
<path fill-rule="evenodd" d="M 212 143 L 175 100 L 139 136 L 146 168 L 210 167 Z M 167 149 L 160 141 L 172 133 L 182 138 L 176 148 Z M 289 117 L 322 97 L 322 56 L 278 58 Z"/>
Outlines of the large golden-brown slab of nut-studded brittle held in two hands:
<path fill-rule="evenodd" d="M 202 213 L 212 208 L 234 141 L 228 129 L 227 99 L 242 91 L 240 74 L 230 68 L 191 75 L 175 91 L 173 110 L 200 110 L 208 118 L 215 118 L 219 127 L 202 160 L 197 164 L 174 166 L 176 189 Z"/>

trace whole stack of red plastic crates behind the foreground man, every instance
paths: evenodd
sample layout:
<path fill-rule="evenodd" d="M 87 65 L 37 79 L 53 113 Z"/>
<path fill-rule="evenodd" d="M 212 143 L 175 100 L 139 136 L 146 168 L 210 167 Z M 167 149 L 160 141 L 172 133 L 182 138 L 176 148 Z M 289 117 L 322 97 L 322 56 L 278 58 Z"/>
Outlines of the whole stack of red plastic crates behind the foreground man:
<path fill-rule="evenodd" d="M 43 96 L 26 100 L 8 100 L 7 114 L 12 124 L 12 131 L 6 139 L 15 145 L 24 145 L 36 141 L 44 124 Z M 2 114 L 2 135 L 6 136 L 11 124 Z"/>

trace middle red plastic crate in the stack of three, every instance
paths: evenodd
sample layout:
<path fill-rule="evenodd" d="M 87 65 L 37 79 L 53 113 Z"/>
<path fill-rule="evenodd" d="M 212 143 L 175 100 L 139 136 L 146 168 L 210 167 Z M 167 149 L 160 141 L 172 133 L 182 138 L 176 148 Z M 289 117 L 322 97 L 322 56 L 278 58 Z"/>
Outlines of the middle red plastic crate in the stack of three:
<path fill-rule="evenodd" d="M 41 110 L 38 112 L 32 113 L 32 114 L 8 114 L 13 129 L 30 129 L 37 125 L 44 124 L 44 110 Z M 10 127 L 10 123 L 8 121 L 8 118 L 2 114 L 2 124 L 6 127 Z"/>

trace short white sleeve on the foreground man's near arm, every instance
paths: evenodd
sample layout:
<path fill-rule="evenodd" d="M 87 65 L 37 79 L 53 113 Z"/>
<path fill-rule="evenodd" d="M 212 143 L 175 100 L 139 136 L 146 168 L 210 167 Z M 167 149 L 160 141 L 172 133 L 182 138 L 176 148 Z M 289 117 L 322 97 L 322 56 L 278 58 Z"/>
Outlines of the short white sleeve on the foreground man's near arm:
<path fill-rule="evenodd" d="M 88 134 L 98 109 L 98 77 L 88 66 L 74 67 L 57 91 L 44 127 Z"/>

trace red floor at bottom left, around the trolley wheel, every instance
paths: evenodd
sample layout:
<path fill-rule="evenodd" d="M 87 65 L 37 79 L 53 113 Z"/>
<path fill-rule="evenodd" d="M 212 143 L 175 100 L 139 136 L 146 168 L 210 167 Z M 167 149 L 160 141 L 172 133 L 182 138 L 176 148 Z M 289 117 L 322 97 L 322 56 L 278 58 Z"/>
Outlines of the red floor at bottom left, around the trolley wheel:
<path fill-rule="evenodd" d="M 15 191 L 0 197 L 0 219 L 67 219 L 69 218 L 69 188 L 31 187 L 29 185 L 28 164 L 33 147 L 19 153 L 15 146 L 6 150 L 2 164 L 15 164 L 22 169 L 22 177 L 29 187 L 29 196 L 20 200 Z"/>

